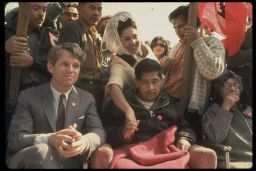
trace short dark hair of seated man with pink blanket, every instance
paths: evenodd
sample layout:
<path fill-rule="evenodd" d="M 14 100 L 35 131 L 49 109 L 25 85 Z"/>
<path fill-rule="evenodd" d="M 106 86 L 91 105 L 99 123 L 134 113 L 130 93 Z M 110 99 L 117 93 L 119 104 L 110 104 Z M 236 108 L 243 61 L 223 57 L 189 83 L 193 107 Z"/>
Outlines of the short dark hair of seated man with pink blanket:
<path fill-rule="evenodd" d="M 140 80 L 142 74 L 145 72 L 157 72 L 160 78 L 162 77 L 163 73 L 161 65 L 157 61 L 149 58 L 143 59 L 136 65 L 135 78 Z"/>

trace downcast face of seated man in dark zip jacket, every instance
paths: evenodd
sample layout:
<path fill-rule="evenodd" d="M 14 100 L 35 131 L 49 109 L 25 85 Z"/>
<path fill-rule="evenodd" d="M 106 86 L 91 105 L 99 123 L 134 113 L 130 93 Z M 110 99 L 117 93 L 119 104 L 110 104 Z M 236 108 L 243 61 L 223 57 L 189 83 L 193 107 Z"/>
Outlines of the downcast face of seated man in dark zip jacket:
<path fill-rule="evenodd" d="M 145 72 L 140 80 L 137 80 L 139 98 L 146 102 L 153 102 L 159 95 L 162 87 L 162 80 L 157 72 Z"/>

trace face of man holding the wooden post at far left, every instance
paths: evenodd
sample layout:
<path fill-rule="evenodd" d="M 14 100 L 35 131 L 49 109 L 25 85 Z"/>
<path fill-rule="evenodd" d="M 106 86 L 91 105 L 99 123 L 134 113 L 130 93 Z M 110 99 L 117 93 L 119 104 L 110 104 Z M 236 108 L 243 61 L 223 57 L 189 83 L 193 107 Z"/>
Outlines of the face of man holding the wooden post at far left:
<path fill-rule="evenodd" d="M 30 28 L 40 28 L 46 16 L 47 2 L 30 2 Z"/>

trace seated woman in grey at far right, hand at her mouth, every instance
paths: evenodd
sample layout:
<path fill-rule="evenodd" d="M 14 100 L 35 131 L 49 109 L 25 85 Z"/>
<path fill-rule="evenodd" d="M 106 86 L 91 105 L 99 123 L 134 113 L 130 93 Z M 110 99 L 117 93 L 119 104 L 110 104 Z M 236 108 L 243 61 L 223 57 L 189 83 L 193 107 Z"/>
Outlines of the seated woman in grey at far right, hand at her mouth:
<path fill-rule="evenodd" d="M 207 143 L 231 146 L 230 167 L 252 167 L 252 109 L 242 104 L 241 77 L 224 72 L 212 85 L 212 104 L 203 118 Z M 224 154 L 218 154 L 218 167 L 223 167 Z"/>

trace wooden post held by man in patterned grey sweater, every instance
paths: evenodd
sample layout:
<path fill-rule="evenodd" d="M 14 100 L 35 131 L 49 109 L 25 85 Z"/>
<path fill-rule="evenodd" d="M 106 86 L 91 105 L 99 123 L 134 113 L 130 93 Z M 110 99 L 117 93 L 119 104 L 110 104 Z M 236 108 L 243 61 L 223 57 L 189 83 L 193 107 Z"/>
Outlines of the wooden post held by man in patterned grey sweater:
<path fill-rule="evenodd" d="M 187 25 L 193 26 L 197 28 L 197 2 L 190 2 L 189 3 L 189 10 L 188 10 L 188 22 Z M 195 65 L 195 61 L 192 57 L 192 48 L 190 47 L 190 43 L 185 44 L 185 54 L 184 54 L 184 68 L 182 73 L 182 92 L 181 92 L 181 107 L 182 112 L 188 106 L 192 87 L 193 87 L 193 67 Z"/>

